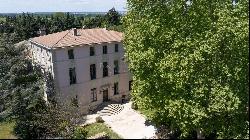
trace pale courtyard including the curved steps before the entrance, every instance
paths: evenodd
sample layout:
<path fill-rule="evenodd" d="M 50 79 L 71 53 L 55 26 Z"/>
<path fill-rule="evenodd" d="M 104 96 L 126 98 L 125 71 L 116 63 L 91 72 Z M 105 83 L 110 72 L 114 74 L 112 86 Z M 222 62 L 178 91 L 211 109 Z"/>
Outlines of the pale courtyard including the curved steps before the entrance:
<path fill-rule="evenodd" d="M 153 125 L 145 123 L 144 116 L 131 108 L 131 102 L 110 104 L 96 114 L 87 115 L 85 124 L 95 123 L 97 116 L 101 116 L 104 123 L 124 139 L 149 139 L 156 132 Z"/>

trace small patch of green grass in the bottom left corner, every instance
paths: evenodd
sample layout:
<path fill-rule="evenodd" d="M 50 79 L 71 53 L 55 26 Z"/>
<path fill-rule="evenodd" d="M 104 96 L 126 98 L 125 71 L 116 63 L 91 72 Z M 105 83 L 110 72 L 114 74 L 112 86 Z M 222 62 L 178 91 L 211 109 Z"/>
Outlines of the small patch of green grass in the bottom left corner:
<path fill-rule="evenodd" d="M 0 139 L 16 139 L 13 129 L 13 122 L 0 122 Z"/>

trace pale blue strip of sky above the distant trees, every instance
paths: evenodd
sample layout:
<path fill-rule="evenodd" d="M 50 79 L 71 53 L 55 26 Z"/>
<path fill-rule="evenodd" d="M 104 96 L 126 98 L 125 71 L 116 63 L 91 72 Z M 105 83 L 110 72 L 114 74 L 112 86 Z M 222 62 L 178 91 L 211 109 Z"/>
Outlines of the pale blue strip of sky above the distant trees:
<path fill-rule="evenodd" d="M 126 11 L 126 0 L 0 0 L 0 13 Z"/>

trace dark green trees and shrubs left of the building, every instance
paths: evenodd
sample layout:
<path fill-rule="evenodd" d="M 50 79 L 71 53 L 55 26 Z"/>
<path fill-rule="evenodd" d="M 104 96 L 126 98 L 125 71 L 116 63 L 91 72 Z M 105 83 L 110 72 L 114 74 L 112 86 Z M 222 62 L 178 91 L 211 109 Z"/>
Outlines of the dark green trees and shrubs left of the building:
<path fill-rule="evenodd" d="M 72 114 L 70 107 L 44 101 L 41 68 L 31 65 L 25 50 L 25 45 L 14 46 L 8 35 L 0 36 L 0 118 L 15 121 L 18 138 L 71 138 L 78 114 Z"/>

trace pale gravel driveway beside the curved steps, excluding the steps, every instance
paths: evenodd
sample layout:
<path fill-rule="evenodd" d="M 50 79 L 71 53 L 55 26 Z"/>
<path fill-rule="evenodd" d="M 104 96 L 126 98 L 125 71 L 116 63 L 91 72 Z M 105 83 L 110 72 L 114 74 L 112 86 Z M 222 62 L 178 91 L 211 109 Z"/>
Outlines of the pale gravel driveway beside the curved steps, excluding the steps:
<path fill-rule="evenodd" d="M 154 136 L 156 129 L 145 125 L 145 118 L 131 108 L 131 102 L 123 104 L 124 109 L 117 115 L 102 116 L 105 123 L 124 139 L 142 139 Z"/>

